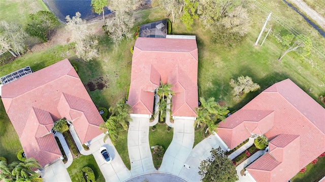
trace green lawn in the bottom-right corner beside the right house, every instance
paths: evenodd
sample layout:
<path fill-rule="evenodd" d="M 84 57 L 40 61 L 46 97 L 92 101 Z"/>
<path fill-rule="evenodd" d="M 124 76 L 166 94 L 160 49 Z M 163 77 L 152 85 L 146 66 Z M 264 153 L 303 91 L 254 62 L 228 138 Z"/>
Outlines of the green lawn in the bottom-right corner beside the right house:
<path fill-rule="evenodd" d="M 316 164 L 308 164 L 306 166 L 306 171 L 303 173 L 298 173 L 295 177 L 291 179 L 293 182 L 317 182 L 325 175 L 325 157 L 318 158 Z"/>

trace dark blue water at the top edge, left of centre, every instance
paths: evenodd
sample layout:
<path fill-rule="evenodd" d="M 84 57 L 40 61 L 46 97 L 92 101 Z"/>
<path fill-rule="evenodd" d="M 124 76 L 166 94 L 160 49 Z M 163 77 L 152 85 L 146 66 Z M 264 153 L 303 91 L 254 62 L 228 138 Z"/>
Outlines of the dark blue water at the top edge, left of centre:
<path fill-rule="evenodd" d="M 91 0 L 43 0 L 43 2 L 63 22 L 66 22 L 67 15 L 73 17 L 76 12 L 81 13 L 81 18 L 86 21 L 103 17 L 103 14 L 99 15 L 92 12 Z M 110 13 L 111 11 L 105 8 L 105 15 Z"/>

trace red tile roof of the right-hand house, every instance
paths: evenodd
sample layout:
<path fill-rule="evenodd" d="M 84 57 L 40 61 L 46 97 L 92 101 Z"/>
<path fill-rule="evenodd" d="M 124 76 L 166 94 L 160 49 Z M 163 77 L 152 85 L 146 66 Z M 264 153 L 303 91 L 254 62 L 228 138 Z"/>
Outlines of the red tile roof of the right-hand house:
<path fill-rule="evenodd" d="M 268 130 L 271 121 L 267 121 L 265 123 L 269 124 L 264 126 L 264 124 L 261 123 L 262 125 L 259 126 L 259 130 L 254 130 L 254 132 L 264 133 L 269 140 L 276 138 L 280 134 L 300 136 L 299 150 L 295 149 L 295 152 L 298 155 L 296 157 L 294 157 L 294 155 L 291 155 L 291 157 L 285 156 L 285 150 L 283 150 L 283 153 L 278 153 L 276 151 L 281 150 L 273 149 L 274 156 L 281 156 L 282 154 L 282 157 L 277 157 L 278 162 L 281 162 L 282 160 L 281 165 L 279 166 L 287 166 L 294 161 L 299 162 L 298 167 L 289 167 L 285 172 L 282 171 L 279 173 L 280 171 L 278 171 L 278 169 L 280 168 L 274 169 L 274 171 L 277 171 L 274 175 L 283 176 L 281 181 L 293 177 L 301 168 L 305 167 L 325 151 L 325 109 L 309 97 L 290 79 L 273 84 L 246 104 L 242 109 L 226 118 L 225 122 L 220 123 L 218 135 L 231 149 L 245 141 L 248 138 L 248 135 L 250 135 L 249 131 L 251 130 L 251 127 L 254 127 L 249 126 L 248 122 L 245 122 L 249 120 L 250 115 L 246 112 L 247 110 L 260 110 L 274 113 L 274 116 L 270 116 L 269 118 L 272 118 L 271 120 L 273 120 L 271 129 Z M 256 116 L 252 115 L 251 118 L 253 118 L 252 120 L 255 120 L 254 118 L 256 118 Z M 264 129 L 261 130 L 261 128 Z M 238 135 L 232 134 L 234 132 L 240 133 Z M 289 136 L 283 135 L 282 137 L 286 138 Z M 289 138 L 287 140 L 289 140 Z M 272 141 L 274 145 L 279 147 L 280 144 L 275 144 L 275 142 L 276 141 Z M 284 139 L 279 140 L 278 142 L 283 143 L 282 145 L 286 144 Z M 270 144 L 271 154 L 272 143 Z M 290 148 L 293 146 L 287 146 L 289 146 L 288 150 L 293 150 Z M 251 166 L 249 167 L 251 168 Z M 259 177 L 261 177 L 259 176 L 260 173 L 253 173 L 252 176 L 257 181 L 264 181 L 264 178 L 263 180 L 259 179 Z"/>

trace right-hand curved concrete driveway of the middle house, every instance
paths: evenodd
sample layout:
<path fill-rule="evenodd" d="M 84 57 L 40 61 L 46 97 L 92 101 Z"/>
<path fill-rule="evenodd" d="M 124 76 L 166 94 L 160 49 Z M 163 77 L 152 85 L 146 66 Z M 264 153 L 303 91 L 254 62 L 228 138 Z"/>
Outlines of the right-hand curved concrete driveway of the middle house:
<path fill-rule="evenodd" d="M 179 175 L 194 143 L 194 121 L 185 119 L 174 120 L 173 141 L 165 152 L 160 172 Z"/>

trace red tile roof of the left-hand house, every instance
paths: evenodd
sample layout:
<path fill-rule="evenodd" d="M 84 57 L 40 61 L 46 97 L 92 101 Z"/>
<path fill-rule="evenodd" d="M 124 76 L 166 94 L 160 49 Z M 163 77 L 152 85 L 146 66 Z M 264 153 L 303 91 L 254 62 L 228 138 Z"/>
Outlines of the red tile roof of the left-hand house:
<path fill-rule="evenodd" d="M 60 98 L 64 94 L 75 99 L 66 103 L 71 107 L 71 112 L 79 112 L 80 116 L 84 116 L 74 121 L 80 123 L 77 128 L 84 128 L 82 132 L 76 129 L 81 141 L 101 134 L 99 125 L 104 121 L 68 59 L 2 87 L 2 100 L 6 112 L 17 131 L 26 156 L 34 156 L 42 166 L 53 161 L 54 158 L 57 159 L 60 153 L 54 136 L 46 133 L 52 128 L 53 121 L 65 117 L 63 115 L 65 111 L 58 107 Z M 78 107 L 78 104 L 82 107 Z M 29 121 L 28 117 L 34 117 L 38 122 Z M 73 118 L 77 118 L 76 115 L 73 115 Z M 52 124 L 49 124 L 50 121 Z M 28 124 L 29 122 L 34 122 L 37 127 Z"/>

